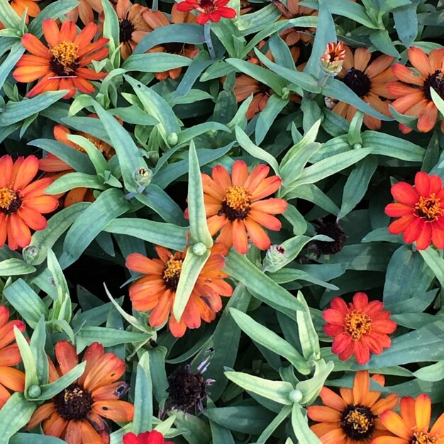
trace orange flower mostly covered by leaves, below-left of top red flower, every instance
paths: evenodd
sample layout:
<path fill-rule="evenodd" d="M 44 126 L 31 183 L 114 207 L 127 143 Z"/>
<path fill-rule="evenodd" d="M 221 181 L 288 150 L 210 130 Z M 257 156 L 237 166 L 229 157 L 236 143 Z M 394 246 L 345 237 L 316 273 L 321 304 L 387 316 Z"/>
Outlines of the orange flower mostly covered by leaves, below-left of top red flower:
<path fill-rule="evenodd" d="M 151 11 L 147 9 L 143 14 L 143 19 L 154 30 L 162 26 L 167 26 L 172 23 L 196 23 L 196 16 L 191 12 L 182 12 L 177 9 L 177 3 L 174 3 L 171 10 L 171 18 L 168 18 L 162 11 Z M 148 52 L 168 52 L 170 54 L 179 54 L 194 58 L 199 50 L 194 45 L 187 45 L 186 43 L 163 43 L 151 48 Z M 182 72 L 182 67 L 174 68 L 169 71 L 156 72 L 157 80 L 165 80 L 168 77 L 177 79 Z"/>

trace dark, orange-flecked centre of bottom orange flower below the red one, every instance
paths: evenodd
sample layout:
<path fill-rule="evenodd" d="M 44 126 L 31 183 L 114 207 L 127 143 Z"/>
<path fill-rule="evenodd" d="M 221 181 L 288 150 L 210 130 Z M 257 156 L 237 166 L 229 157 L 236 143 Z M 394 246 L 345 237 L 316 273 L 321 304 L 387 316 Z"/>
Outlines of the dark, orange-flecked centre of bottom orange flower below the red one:
<path fill-rule="evenodd" d="M 367 406 L 350 404 L 342 412 L 340 426 L 349 438 L 364 441 L 374 431 L 374 418 Z"/>

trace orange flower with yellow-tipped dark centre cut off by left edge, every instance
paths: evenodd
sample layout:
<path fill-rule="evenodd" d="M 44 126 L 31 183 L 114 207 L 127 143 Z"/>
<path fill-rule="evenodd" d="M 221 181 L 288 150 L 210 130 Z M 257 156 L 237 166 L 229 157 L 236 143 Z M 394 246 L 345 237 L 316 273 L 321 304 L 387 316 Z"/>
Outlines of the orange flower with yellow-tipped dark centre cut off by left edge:
<path fill-rule="evenodd" d="M 10 155 L 0 157 L 0 248 L 6 238 L 11 250 L 28 246 L 29 228 L 43 230 L 46 219 L 42 213 L 57 208 L 57 199 L 45 194 L 52 179 L 32 182 L 37 171 L 35 156 L 18 157 L 16 162 Z"/>

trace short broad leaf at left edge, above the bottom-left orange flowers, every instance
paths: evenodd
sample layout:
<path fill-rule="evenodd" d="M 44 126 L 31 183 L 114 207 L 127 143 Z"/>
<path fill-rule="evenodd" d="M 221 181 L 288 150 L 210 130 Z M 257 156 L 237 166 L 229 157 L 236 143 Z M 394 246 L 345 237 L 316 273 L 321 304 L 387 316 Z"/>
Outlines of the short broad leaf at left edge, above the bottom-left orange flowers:
<path fill-rule="evenodd" d="M 31 328 L 37 326 L 42 315 L 46 317 L 49 314 L 40 296 L 23 279 L 17 279 L 5 287 L 3 294 Z"/>

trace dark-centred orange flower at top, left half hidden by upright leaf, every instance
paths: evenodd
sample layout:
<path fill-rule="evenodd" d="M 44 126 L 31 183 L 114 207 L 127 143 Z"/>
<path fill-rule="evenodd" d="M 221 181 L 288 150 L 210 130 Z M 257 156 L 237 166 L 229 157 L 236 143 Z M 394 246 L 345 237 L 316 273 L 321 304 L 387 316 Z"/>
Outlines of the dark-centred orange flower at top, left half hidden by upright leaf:
<path fill-rule="evenodd" d="M 118 0 L 116 13 L 120 23 L 121 56 L 128 58 L 134 48 L 152 28 L 143 19 L 143 12 L 148 8 L 140 4 L 131 4 L 130 0 Z"/>

